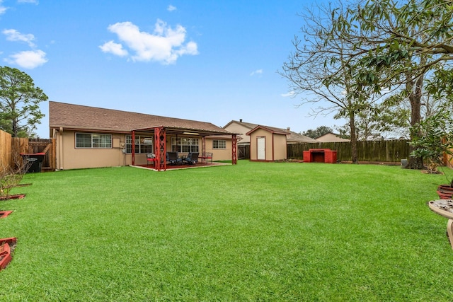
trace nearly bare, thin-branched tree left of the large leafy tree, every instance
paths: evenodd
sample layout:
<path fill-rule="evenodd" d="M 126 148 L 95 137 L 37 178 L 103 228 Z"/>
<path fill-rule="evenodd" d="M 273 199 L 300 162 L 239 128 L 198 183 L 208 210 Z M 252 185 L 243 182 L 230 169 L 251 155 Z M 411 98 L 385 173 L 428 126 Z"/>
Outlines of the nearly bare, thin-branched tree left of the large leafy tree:
<path fill-rule="evenodd" d="M 334 118 L 348 120 L 351 140 L 352 163 L 357 158 L 357 115 L 372 110 L 377 100 L 371 88 L 358 91 L 354 66 L 357 50 L 342 28 L 338 28 L 336 13 L 348 13 L 349 8 L 332 11 L 331 6 L 319 6 L 316 11 L 306 11 L 302 17 L 304 39 L 295 37 L 295 51 L 282 67 L 280 75 L 288 80 L 289 89 L 301 97 L 301 104 L 317 104 L 312 115 L 334 113 Z M 345 18 L 345 17 L 343 17 Z"/>

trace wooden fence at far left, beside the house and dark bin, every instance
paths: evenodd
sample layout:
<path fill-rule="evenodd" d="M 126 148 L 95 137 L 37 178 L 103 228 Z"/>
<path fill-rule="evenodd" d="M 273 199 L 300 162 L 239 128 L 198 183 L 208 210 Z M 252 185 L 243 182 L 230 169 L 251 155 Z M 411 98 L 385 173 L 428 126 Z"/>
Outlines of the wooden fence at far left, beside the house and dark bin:
<path fill-rule="evenodd" d="M 0 130 L 0 164 L 15 165 L 21 153 L 45 153 L 42 171 L 55 171 L 55 139 L 28 139 L 11 137 Z"/>

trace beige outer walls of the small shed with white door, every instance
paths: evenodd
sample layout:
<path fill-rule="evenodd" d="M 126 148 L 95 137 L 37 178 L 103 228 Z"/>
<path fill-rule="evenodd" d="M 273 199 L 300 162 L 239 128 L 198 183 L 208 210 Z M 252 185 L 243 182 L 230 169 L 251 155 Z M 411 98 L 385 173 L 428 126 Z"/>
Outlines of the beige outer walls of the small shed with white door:
<path fill-rule="evenodd" d="M 265 129 L 256 129 L 250 134 L 250 159 L 258 160 L 258 137 L 265 137 L 265 161 L 278 161 L 287 158 L 286 135 L 273 134 Z"/>

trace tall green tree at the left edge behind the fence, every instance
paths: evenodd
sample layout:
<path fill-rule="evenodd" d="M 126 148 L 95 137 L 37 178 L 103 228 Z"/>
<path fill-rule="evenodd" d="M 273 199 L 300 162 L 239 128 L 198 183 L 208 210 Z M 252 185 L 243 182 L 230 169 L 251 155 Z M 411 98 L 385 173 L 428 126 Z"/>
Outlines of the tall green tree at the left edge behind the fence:
<path fill-rule="evenodd" d="M 13 137 L 28 137 L 45 115 L 40 102 L 47 95 L 36 87 L 28 74 L 8 66 L 0 66 L 0 129 Z"/>

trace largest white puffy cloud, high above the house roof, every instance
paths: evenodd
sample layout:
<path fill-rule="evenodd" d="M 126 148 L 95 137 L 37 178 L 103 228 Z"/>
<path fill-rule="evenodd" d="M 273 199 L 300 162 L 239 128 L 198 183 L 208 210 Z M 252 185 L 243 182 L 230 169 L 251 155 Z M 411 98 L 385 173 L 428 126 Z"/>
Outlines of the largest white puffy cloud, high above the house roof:
<path fill-rule="evenodd" d="M 117 34 L 123 42 L 122 47 L 128 47 L 132 52 L 132 60 L 138 62 L 157 61 L 162 64 L 173 64 L 183 54 L 198 54 L 197 43 L 185 42 L 185 28 L 176 25 L 171 28 L 164 21 L 157 20 L 154 33 L 140 31 L 137 25 L 131 22 L 120 22 L 108 26 L 110 32 Z M 113 41 L 101 45 L 101 50 L 120 55 L 124 52 L 114 53 L 109 50 L 108 44 L 120 45 Z M 122 47 L 115 46 L 116 50 Z M 105 50 L 104 50 L 105 49 Z"/>

